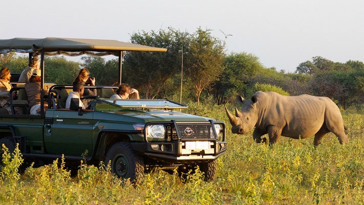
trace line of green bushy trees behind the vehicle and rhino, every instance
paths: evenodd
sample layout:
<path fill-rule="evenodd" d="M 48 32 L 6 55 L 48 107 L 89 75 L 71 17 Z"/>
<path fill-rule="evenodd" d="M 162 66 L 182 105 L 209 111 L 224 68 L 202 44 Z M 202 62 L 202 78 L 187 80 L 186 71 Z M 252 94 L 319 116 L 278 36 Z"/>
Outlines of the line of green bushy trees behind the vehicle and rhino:
<path fill-rule="evenodd" d="M 336 63 L 315 56 L 299 64 L 294 73 L 265 68 L 250 53 L 227 53 L 225 42 L 210 30 L 194 33 L 173 28 L 133 33 L 131 43 L 167 48 L 167 52 L 124 52 L 122 82 L 139 90 L 143 98 L 182 101 L 208 100 L 217 104 L 233 101 L 236 95 L 250 97 L 255 91 L 284 95 L 327 96 L 344 109 L 364 103 L 364 63 L 349 60 Z M 183 56 L 183 59 L 182 59 Z M 47 57 L 46 81 L 70 84 L 81 67 L 90 70 L 98 85 L 116 84 L 118 60 L 82 57 L 82 63 L 64 57 Z M 183 61 L 183 72 L 182 72 Z M 0 66 L 20 73 L 28 57 L 0 55 Z"/>

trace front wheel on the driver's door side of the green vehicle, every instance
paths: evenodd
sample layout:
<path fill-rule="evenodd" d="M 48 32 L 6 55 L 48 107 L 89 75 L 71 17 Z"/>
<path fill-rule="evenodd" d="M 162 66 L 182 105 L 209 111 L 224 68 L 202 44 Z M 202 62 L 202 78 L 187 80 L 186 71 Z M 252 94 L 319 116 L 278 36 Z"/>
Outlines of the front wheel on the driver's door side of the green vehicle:
<path fill-rule="evenodd" d="M 111 172 L 118 177 L 137 181 L 139 175 L 144 173 L 144 161 L 136 155 L 129 142 L 117 142 L 105 157 L 105 165 L 111 162 Z"/>

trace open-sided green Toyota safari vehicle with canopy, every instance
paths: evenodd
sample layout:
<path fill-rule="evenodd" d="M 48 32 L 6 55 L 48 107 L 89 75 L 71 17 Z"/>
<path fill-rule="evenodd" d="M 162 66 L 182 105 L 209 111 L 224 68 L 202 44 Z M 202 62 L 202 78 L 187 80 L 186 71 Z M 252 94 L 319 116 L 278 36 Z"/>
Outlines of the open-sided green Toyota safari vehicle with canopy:
<path fill-rule="evenodd" d="M 119 177 L 134 181 L 138 175 L 152 169 L 180 174 L 196 166 L 204 172 L 205 180 L 216 177 L 216 159 L 226 151 L 225 125 L 207 117 L 179 112 L 186 106 L 166 99 L 110 99 L 116 87 L 85 86 L 96 89 L 87 109 L 65 109 L 72 86 L 47 84 L 44 81 L 45 55 L 119 56 L 119 82 L 123 51 L 166 51 L 116 40 L 77 38 L 12 38 L 0 40 L 0 54 L 7 52 L 40 55 L 41 90 L 49 87 L 48 95 L 41 93 L 41 114 L 29 115 L 24 83 L 11 82 L 12 114 L 0 108 L 0 144 L 10 151 L 19 144 L 25 159 L 40 163 L 60 158 L 70 162 L 86 159 L 99 165 L 110 163 L 111 171 Z M 11 69 L 11 68 L 10 68 Z M 81 99 L 82 99 L 81 98 Z M 48 110 L 43 108 L 48 104 Z M 17 107 L 19 114 L 14 114 Z"/>

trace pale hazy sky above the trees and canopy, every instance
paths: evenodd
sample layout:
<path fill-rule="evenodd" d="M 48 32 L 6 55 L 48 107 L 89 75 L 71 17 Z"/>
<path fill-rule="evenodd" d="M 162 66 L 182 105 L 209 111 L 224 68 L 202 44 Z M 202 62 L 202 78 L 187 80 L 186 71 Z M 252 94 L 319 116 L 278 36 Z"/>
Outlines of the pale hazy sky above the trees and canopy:
<path fill-rule="evenodd" d="M 313 56 L 364 61 L 364 1 L 2 1 L 0 39 L 72 37 L 129 42 L 133 32 L 201 26 L 266 67 L 293 72 Z M 231 34 L 225 39 L 225 34 Z"/>

